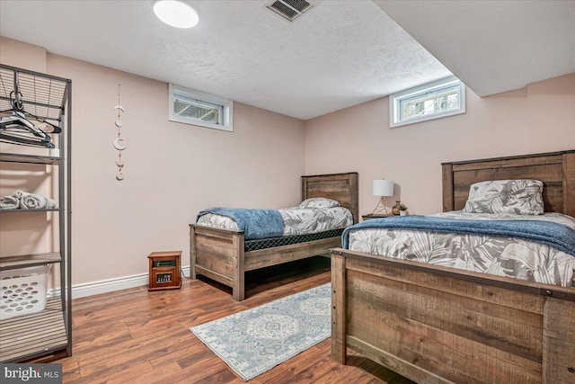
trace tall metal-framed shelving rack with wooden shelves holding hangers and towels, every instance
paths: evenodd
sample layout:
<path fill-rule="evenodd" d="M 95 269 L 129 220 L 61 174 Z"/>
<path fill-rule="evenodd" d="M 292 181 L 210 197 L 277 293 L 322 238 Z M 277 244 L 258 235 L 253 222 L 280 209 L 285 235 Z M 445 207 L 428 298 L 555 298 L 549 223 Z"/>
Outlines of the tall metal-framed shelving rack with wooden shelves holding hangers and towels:
<path fill-rule="evenodd" d="M 15 88 L 22 93 L 25 112 L 39 120 L 57 121 L 62 132 L 50 135 L 57 135 L 59 155 L 0 153 L 0 162 L 57 166 L 58 203 L 56 209 L 0 210 L 0 214 L 57 212 L 59 250 L 0 257 L 0 271 L 59 264 L 53 269 L 59 270 L 60 289 L 59 298 L 49 298 L 41 312 L 0 321 L 0 362 L 23 362 L 62 352 L 72 355 L 72 81 L 0 64 L 0 112 L 12 108 L 10 94 Z"/>

